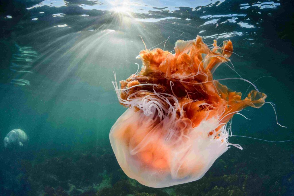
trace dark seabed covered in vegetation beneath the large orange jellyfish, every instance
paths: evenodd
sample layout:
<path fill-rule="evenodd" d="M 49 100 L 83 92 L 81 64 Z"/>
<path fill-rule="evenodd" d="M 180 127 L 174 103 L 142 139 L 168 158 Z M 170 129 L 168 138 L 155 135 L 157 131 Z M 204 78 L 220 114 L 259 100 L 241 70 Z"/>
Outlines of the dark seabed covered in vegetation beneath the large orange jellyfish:
<path fill-rule="evenodd" d="M 29 154 L 12 149 L 10 156 L 1 153 L 0 179 L 4 183 L 0 191 L 4 195 L 44 196 L 293 194 L 294 161 L 283 159 L 293 155 L 293 150 L 279 154 L 291 143 L 278 147 L 272 143 L 260 144 L 256 147 L 261 148 L 262 155 L 250 151 L 249 145 L 250 141 L 244 145 L 247 150 L 234 149 L 222 155 L 200 180 L 169 188 L 146 187 L 128 178 L 111 147 L 71 152 L 41 150 Z"/>

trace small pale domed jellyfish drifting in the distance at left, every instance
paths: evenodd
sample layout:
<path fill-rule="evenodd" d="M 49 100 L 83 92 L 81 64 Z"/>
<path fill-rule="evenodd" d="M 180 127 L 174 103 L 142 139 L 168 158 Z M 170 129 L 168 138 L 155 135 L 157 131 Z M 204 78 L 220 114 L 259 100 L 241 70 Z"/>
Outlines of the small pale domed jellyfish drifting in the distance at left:
<path fill-rule="evenodd" d="M 10 131 L 4 138 L 4 147 L 19 145 L 23 146 L 28 141 L 28 136 L 21 129 L 14 129 Z"/>

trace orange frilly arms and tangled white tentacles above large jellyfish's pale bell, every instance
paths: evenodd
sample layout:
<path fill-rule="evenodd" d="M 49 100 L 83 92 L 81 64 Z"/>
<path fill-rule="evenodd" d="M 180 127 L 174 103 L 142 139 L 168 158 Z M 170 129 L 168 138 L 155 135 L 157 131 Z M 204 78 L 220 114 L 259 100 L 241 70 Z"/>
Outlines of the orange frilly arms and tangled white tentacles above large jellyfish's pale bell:
<path fill-rule="evenodd" d="M 210 50 L 197 36 L 196 41 L 178 40 L 175 53 L 160 48 L 141 51 L 141 72 L 120 81 L 120 89 L 115 86 L 120 103 L 136 107 L 147 116 L 156 108 L 161 120 L 172 115 L 188 118 L 192 127 L 219 116 L 218 129 L 243 108 L 260 108 L 265 103 L 264 93 L 252 90 L 241 100 L 241 93 L 213 80 L 211 71 L 230 61 L 233 45 L 224 41 L 218 47 L 215 40 L 213 46 Z"/>

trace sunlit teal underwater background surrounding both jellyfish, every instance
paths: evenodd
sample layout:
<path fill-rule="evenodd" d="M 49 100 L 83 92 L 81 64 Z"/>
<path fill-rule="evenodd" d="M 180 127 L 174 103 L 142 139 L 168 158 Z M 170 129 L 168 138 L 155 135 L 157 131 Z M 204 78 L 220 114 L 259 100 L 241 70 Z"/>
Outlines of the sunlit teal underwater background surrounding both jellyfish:
<path fill-rule="evenodd" d="M 265 104 L 242 111 L 251 120 L 234 116 L 233 135 L 293 140 L 293 23 L 292 1 L 2 1 L 1 142 L 13 129 L 29 141 L 1 144 L 0 195 L 294 195 L 293 141 L 230 137 L 243 150 L 230 148 L 198 181 L 155 189 L 123 173 L 108 138 L 126 110 L 113 71 L 124 80 L 141 65 L 138 35 L 147 48 L 171 37 L 172 51 L 199 34 L 205 43 L 230 39 L 243 78 L 271 76 L 254 84 L 287 129 Z M 215 78 L 238 74 L 222 65 Z"/>

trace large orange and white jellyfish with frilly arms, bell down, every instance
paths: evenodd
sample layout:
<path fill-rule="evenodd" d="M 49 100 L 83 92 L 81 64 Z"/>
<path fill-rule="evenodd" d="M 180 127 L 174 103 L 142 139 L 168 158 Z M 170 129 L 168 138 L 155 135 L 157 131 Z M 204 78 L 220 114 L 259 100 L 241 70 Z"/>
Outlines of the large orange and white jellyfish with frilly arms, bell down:
<path fill-rule="evenodd" d="M 149 187 L 168 187 L 200 179 L 228 150 L 228 121 L 247 106 L 260 108 L 266 95 L 251 91 L 245 99 L 213 80 L 230 61 L 231 41 L 210 49 L 201 36 L 178 40 L 175 53 L 143 50 L 141 71 L 113 82 L 119 102 L 128 107 L 110 131 L 119 165 Z M 242 148 L 241 148 L 242 149 Z"/>

